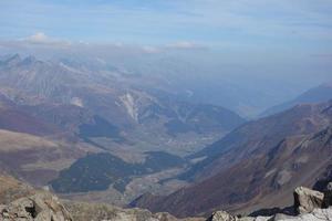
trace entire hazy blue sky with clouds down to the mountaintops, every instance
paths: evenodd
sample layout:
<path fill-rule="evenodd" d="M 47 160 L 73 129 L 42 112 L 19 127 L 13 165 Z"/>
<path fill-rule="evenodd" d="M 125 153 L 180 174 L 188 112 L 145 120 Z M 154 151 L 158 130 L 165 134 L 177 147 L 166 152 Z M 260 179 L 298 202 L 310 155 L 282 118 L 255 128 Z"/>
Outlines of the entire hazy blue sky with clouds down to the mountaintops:
<path fill-rule="evenodd" d="M 332 78 L 332 1 L 0 0 L 0 53 L 44 49 L 95 56 L 172 51 L 199 55 L 193 61 L 216 72 L 235 66 L 325 81 Z"/>

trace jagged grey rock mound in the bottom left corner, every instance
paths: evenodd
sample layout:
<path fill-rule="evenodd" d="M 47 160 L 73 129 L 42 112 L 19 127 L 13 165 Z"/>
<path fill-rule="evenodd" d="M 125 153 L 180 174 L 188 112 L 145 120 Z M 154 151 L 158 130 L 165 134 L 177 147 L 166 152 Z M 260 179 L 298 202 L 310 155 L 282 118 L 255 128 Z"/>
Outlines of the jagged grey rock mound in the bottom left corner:
<path fill-rule="evenodd" d="M 72 218 L 56 197 L 40 192 L 1 206 L 0 220 L 72 221 Z"/>

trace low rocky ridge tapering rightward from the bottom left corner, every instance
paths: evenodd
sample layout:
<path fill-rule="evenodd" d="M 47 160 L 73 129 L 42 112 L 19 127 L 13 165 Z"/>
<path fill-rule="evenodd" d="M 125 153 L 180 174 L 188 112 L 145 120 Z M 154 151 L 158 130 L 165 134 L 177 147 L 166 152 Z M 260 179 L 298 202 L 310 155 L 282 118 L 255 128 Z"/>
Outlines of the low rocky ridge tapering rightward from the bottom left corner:
<path fill-rule="evenodd" d="M 177 219 L 169 213 L 153 214 L 143 209 L 122 209 L 111 204 L 60 201 L 49 192 L 22 197 L 0 206 L 1 221 L 204 221 L 204 218 Z"/>

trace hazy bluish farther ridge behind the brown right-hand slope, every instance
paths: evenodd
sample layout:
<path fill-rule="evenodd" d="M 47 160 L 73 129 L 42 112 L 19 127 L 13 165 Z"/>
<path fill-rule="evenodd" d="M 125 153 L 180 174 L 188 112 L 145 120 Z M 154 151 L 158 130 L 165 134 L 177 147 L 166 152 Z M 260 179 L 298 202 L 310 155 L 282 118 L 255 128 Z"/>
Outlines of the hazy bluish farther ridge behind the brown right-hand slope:
<path fill-rule="evenodd" d="M 250 122 L 229 133 L 219 141 L 194 154 L 205 158 L 184 177 L 201 180 L 221 169 L 258 155 L 266 155 L 284 138 L 318 133 L 332 122 L 332 102 L 298 105 L 283 113 Z"/>

